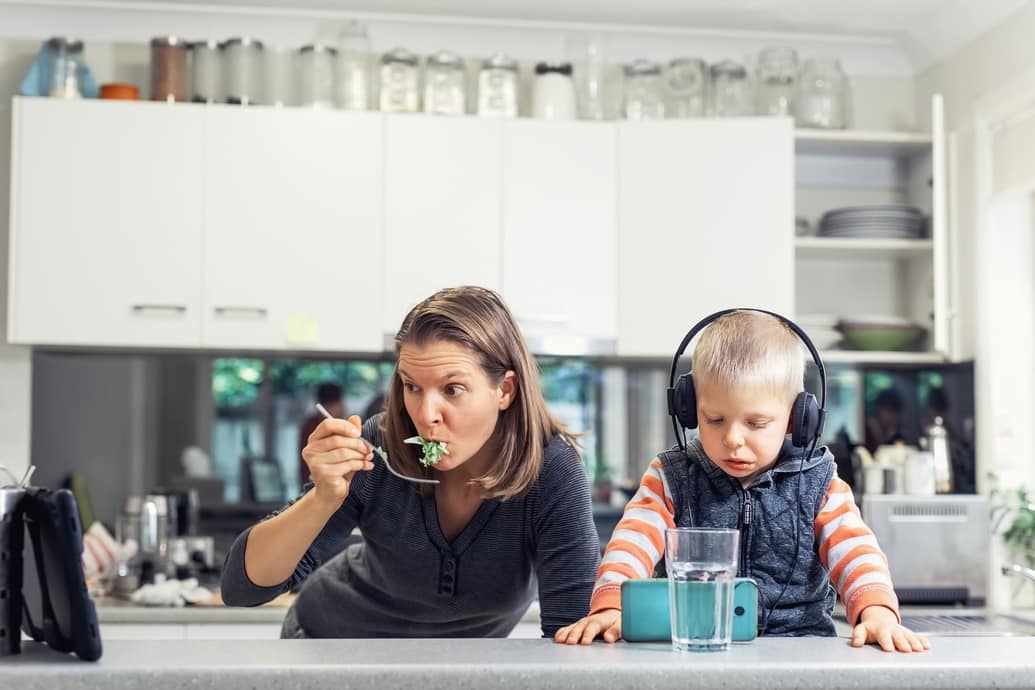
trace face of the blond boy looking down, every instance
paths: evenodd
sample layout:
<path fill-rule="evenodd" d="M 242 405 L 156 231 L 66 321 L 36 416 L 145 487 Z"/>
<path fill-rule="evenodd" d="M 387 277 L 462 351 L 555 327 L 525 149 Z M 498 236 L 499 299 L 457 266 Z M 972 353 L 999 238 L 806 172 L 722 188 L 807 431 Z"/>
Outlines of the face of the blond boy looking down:
<path fill-rule="evenodd" d="M 773 393 L 697 389 L 698 428 L 705 453 L 747 486 L 769 469 L 788 432 L 791 402 Z"/>

